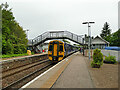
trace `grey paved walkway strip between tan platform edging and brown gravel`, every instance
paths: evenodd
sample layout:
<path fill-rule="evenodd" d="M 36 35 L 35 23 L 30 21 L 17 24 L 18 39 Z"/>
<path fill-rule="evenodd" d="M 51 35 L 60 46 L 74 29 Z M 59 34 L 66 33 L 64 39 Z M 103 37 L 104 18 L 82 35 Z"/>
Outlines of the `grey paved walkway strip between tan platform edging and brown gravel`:
<path fill-rule="evenodd" d="M 84 57 L 79 52 L 52 88 L 94 88 Z"/>

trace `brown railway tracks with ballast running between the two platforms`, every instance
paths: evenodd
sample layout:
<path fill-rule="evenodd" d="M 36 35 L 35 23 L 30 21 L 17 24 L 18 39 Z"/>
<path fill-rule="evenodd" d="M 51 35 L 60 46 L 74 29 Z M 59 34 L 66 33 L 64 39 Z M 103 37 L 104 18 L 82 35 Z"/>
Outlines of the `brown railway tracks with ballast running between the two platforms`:
<path fill-rule="evenodd" d="M 3 90 L 20 88 L 52 66 L 53 64 L 47 59 L 5 71 L 2 77 Z"/>

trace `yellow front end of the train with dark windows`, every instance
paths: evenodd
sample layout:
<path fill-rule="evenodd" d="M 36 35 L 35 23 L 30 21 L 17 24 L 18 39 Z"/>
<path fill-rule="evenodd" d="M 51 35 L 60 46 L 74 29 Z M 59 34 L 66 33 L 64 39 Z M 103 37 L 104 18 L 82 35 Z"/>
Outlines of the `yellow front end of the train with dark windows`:
<path fill-rule="evenodd" d="M 64 57 L 64 43 L 58 40 L 49 42 L 48 58 L 53 62 L 58 62 Z"/>

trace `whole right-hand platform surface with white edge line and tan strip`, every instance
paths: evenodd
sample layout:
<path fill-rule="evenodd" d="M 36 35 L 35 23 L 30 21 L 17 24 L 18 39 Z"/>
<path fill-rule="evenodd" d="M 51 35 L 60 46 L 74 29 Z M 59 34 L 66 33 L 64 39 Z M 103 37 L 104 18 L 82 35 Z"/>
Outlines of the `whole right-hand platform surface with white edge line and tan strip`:
<path fill-rule="evenodd" d="M 76 52 L 22 87 L 25 88 L 94 88 L 84 56 Z"/>

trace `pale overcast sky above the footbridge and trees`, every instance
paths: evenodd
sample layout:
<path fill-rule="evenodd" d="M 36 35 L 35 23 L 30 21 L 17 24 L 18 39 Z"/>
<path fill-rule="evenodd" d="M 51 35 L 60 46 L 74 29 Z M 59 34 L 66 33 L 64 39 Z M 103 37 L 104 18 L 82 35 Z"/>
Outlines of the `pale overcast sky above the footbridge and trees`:
<path fill-rule="evenodd" d="M 68 30 L 78 35 L 88 34 L 84 21 L 94 21 L 92 36 L 99 35 L 105 22 L 112 32 L 118 30 L 119 0 L 0 0 L 8 2 L 17 22 L 28 38 L 49 30 Z"/>

